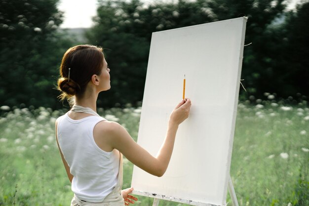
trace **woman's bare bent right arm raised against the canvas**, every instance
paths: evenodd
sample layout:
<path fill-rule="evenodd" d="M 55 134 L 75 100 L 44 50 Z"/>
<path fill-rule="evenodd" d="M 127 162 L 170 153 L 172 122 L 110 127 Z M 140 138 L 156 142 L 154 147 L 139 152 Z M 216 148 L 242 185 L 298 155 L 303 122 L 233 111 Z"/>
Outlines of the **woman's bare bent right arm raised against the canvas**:
<path fill-rule="evenodd" d="M 190 107 L 190 99 L 183 100 L 175 107 L 168 122 L 164 142 L 156 157 L 138 145 L 120 124 L 114 122 L 109 122 L 109 129 L 105 130 L 108 132 L 109 144 L 112 148 L 119 150 L 134 165 L 153 175 L 162 176 L 172 156 L 178 126 L 188 118 Z"/>

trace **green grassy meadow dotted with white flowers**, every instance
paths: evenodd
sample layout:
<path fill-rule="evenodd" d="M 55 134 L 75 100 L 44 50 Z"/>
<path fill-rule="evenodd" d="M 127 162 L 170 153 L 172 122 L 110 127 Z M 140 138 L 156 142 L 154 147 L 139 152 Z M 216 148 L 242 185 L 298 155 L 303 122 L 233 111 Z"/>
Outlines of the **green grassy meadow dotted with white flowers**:
<path fill-rule="evenodd" d="M 291 106 L 292 105 L 292 106 Z M 1 107 L 0 206 L 70 206 L 73 197 L 54 137 L 66 110 Z M 136 140 L 141 108 L 98 109 Z M 123 188 L 133 166 L 124 160 Z M 231 176 L 240 206 L 309 206 L 309 108 L 307 101 L 238 104 Z M 227 201 L 232 205 L 230 197 Z M 136 206 L 151 206 L 139 197 Z M 160 206 L 185 206 L 160 201 Z"/>

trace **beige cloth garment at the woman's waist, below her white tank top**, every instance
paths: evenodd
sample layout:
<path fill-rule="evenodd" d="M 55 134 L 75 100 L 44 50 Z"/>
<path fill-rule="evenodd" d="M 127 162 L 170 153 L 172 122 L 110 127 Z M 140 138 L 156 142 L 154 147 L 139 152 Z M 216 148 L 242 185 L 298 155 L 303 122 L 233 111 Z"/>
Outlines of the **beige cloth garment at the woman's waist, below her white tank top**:
<path fill-rule="evenodd" d="M 71 206 L 124 206 L 124 199 L 121 194 L 122 188 L 122 154 L 120 154 L 118 182 L 114 190 L 101 203 L 83 202 L 74 195 Z"/>

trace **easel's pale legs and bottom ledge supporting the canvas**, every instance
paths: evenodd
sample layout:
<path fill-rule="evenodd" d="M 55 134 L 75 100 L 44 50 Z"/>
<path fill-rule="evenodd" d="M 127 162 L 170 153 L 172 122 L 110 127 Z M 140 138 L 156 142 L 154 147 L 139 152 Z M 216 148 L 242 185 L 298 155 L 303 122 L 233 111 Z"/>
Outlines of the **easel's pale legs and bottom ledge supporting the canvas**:
<path fill-rule="evenodd" d="M 229 189 L 229 193 L 230 193 L 230 196 L 231 196 L 231 199 L 232 199 L 233 206 L 238 206 L 238 202 L 237 202 L 234 186 L 233 186 L 233 183 L 232 183 L 231 175 L 230 175 L 230 178 L 229 178 L 228 189 Z M 135 192 L 135 194 L 138 194 L 138 193 Z M 183 199 L 178 199 L 178 198 L 171 198 L 171 197 L 167 197 L 167 196 L 160 196 L 159 198 L 157 198 L 157 197 L 155 197 L 157 195 L 154 195 L 154 194 L 153 195 L 148 194 L 147 196 L 148 197 L 154 197 L 153 206 L 159 206 L 160 199 L 184 203 L 184 204 L 189 204 L 189 205 L 193 205 L 193 206 L 215 206 L 215 205 L 212 205 L 212 204 L 204 204 L 204 203 L 188 201 L 188 200 L 183 200 Z"/>

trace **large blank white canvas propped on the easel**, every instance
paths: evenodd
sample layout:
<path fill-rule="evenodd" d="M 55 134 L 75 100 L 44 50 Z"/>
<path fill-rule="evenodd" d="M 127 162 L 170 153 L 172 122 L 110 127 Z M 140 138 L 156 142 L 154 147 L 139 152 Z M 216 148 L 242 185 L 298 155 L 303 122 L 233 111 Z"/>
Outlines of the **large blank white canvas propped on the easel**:
<path fill-rule="evenodd" d="M 245 25 L 241 17 L 153 33 L 138 144 L 156 156 L 184 75 L 192 108 L 165 174 L 134 166 L 135 191 L 226 205 Z"/>

